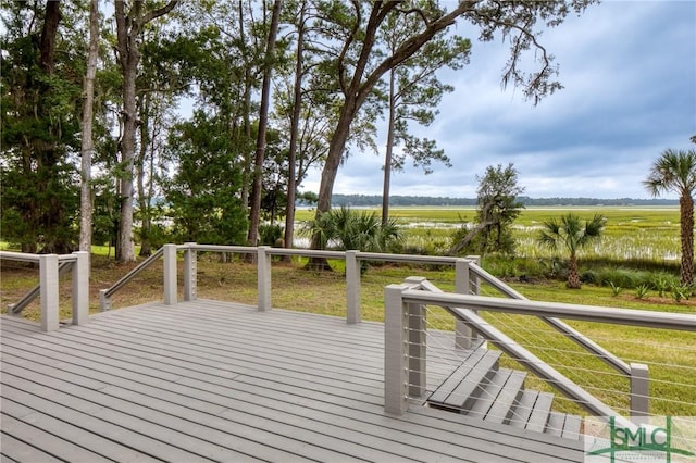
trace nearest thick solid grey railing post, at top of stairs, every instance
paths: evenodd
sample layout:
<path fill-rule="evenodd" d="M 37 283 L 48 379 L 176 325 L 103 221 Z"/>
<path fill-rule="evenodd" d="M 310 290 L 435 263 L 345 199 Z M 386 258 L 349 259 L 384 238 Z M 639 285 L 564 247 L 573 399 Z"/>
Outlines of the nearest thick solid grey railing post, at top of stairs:
<path fill-rule="evenodd" d="M 408 313 L 401 293 L 407 285 L 384 289 L 384 411 L 406 413 L 408 402 Z"/>

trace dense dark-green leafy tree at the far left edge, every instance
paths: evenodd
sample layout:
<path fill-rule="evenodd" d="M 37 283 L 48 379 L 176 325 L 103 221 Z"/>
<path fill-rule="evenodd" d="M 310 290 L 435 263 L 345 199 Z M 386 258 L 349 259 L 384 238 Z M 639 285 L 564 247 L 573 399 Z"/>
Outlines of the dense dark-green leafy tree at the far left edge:
<path fill-rule="evenodd" d="M 0 217 L 24 252 L 75 249 L 84 42 L 72 3 L 2 9 Z M 60 50 L 58 52 L 57 50 Z"/>

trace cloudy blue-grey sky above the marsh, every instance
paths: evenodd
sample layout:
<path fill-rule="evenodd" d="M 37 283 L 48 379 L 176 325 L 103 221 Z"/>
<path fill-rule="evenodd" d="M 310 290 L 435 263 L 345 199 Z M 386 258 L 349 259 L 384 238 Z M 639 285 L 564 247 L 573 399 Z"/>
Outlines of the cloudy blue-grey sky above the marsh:
<path fill-rule="evenodd" d="M 662 151 L 696 149 L 696 1 L 608 0 L 544 29 L 564 88 L 536 107 L 501 87 L 509 45 L 458 27 L 472 40 L 470 64 L 440 73 L 456 90 L 430 127 L 413 130 L 437 140 L 452 167 L 424 175 L 407 164 L 391 195 L 475 198 L 476 176 L 512 163 L 532 198 L 650 198 L 642 182 Z M 335 193 L 382 195 L 385 141 L 381 124 L 380 153 L 352 154 Z M 320 175 L 301 189 L 319 191 Z"/>

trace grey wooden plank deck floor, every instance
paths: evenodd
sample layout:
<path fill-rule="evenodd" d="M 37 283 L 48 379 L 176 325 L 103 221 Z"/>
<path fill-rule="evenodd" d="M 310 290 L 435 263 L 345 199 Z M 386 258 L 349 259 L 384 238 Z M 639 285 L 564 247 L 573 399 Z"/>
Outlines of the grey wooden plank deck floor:
<path fill-rule="evenodd" d="M 582 442 L 411 404 L 384 327 L 199 300 L 41 333 L 2 316 L 2 461 L 582 461 Z"/>

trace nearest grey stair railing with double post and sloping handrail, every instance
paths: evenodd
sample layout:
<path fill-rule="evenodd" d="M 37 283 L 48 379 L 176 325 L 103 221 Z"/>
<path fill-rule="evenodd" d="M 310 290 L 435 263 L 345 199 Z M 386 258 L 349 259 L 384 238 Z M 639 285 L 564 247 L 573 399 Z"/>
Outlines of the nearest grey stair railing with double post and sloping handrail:
<path fill-rule="evenodd" d="M 425 306 L 446 309 L 457 320 L 481 333 L 485 339 L 570 397 L 573 402 L 588 410 L 591 414 L 599 416 L 618 415 L 619 413 L 595 399 L 524 347 L 505 336 L 492 326 L 492 322 L 482 318 L 473 311 L 696 331 L 696 316 L 694 315 L 445 293 L 438 291 L 424 279 L 410 278 L 405 284 L 390 285 L 385 289 L 385 410 L 389 413 L 403 413 L 408 409 L 409 398 L 422 397 L 425 392 L 427 371 L 425 366 L 427 343 Z M 691 349 L 693 350 L 693 348 L 692 346 Z M 689 347 L 684 347 L 684 349 L 689 349 Z M 647 372 L 647 367 L 643 371 Z M 681 365 L 680 372 L 687 378 L 689 376 L 694 378 L 696 365 Z M 632 383 L 630 393 L 634 396 L 634 399 L 631 408 L 641 408 L 639 410 L 630 410 L 629 413 L 632 416 L 648 415 L 647 375 L 643 379 L 643 381 Z M 696 385 L 689 385 L 688 379 L 683 383 L 674 381 L 659 386 L 670 385 L 696 388 Z M 636 388 L 636 386 L 638 387 Z M 689 392 L 693 397 L 696 390 L 689 390 Z"/>

